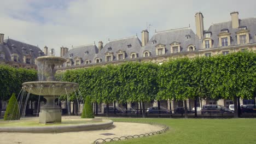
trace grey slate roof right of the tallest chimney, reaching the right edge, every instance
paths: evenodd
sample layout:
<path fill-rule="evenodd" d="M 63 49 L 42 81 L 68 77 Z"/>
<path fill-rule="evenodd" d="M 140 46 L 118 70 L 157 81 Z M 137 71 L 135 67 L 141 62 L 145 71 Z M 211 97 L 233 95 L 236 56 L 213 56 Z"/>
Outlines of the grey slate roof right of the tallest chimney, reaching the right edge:
<path fill-rule="evenodd" d="M 239 27 L 246 26 L 247 29 L 250 31 L 250 43 L 256 43 L 255 34 L 256 34 L 256 18 L 247 18 L 247 19 L 240 19 L 239 20 Z M 232 21 L 228 22 L 220 22 L 214 23 L 210 26 L 210 28 L 204 32 L 203 38 L 205 38 L 206 32 L 212 32 L 211 39 L 213 40 L 213 48 L 219 47 L 219 37 L 218 34 L 221 32 L 222 29 L 228 29 L 229 33 L 231 33 L 231 46 L 237 45 L 237 38 L 236 33 L 239 29 L 232 28 Z"/>

